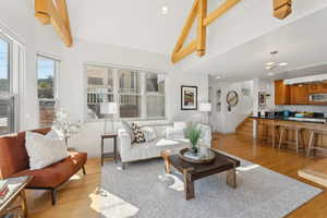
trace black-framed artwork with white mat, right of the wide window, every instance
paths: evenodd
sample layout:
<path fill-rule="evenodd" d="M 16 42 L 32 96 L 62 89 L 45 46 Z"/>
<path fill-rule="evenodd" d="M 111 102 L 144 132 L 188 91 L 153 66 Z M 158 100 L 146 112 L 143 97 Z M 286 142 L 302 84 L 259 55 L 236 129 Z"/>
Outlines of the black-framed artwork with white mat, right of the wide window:
<path fill-rule="evenodd" d="M 181 110 L 197 110 L 197 86 L 181 87 Z"/>

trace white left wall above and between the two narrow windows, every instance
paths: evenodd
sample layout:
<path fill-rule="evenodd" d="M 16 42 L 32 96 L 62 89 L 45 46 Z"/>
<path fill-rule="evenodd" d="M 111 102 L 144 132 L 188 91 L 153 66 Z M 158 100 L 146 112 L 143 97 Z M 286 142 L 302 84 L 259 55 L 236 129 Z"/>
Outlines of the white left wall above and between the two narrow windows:
<path fill-rule="evenodd" d="M 36 90 L 36 53 L 39 51 L 60 56 L 61 41 L 50 26 L 41 26 L 34 17 L 33 1 L 0 1 L 0 28 L 26 48 L 26 68 L 21 72 L 24 80 L 22 95 L 21 129 L 38 126 Z"/>

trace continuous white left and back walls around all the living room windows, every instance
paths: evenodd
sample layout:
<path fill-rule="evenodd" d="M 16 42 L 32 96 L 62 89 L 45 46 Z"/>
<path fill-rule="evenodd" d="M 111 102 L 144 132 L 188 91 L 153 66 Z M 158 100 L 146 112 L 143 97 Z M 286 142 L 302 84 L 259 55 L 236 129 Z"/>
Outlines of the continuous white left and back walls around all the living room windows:
<path fill-rule="evenodd" d="M 181 111 L 181 85 L 198 86 L 198 101 L 207 101 L 208 80 L 204 74 L 186 74 L 170 64 L 169 57 L 142 50 L 117 47 L 75 39 L 72 48 L 63 46 L 51 26 L 43 26 L 34 17 L 33 1 L 0 1 L 0 28 L 8 26 L 12 35 L 26 47 L 26 72 L 24 80 L 21 130 L 38 128 L 38 101 L 36 82 L 36 53 L 43 52 L 61 60 L 59 75 L 59 100 L 72 121 L 84 120 L 86 108 L 85 72 L 86 62 L 116 64 L 142 69 L 162 70 L 167 77 L 167 118 L 169 120 L 202 120 L 197 111 Z M 8 32 L 8 31 L 7 31 Z M 70 144 L 89 156 L 99 156 L 100 134 L 104 122 L 85 123 Z M 107 142 L 108 143 L 108 142 Z M 111 147 L 111 146 L 108 146 Z"/>

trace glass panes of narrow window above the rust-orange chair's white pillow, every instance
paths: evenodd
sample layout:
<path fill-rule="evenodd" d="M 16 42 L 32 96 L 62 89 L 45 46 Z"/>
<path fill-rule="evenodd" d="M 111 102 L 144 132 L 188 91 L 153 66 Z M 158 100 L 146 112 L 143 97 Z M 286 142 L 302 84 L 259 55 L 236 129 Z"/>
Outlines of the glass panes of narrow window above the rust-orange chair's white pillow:
<path fill-rule="evenodd" d="M 39 124 L 50 126 L 56 116 L 56 78 L 59 61 L 52 58 L 37 57 L 37 96 L 39 101 Z"/>

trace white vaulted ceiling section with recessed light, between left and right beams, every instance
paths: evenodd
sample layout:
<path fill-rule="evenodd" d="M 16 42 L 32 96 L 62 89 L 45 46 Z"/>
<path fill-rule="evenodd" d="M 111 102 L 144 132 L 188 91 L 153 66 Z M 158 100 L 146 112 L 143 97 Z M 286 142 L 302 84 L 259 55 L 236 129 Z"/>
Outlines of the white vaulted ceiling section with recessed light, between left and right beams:
<path fill-rule="evenodd" d="M 193 0 L 68 0 L 68 3 L 74 37 L 168 56 Z M 164 5 L 169 7 L 167 15 L 161 14 Z"/>

